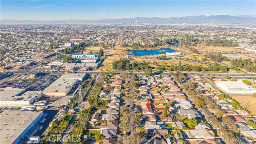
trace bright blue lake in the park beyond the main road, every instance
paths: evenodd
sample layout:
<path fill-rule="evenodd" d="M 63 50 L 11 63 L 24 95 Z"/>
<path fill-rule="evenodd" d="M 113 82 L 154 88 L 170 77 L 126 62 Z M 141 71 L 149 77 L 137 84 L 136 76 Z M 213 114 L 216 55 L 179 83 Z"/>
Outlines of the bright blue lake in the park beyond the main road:
<path fill-rule="evenodd" d="M 145 55 L 156 55 L 156 54 L 166 54 L 166 52 L 159 52 L 159 50 L 166 50 L 166 52 L 176 52 L 171 48 L 160 48 L 157 50 L 128 50 L 129 55 L 134 56 L 145 56 Z"/>

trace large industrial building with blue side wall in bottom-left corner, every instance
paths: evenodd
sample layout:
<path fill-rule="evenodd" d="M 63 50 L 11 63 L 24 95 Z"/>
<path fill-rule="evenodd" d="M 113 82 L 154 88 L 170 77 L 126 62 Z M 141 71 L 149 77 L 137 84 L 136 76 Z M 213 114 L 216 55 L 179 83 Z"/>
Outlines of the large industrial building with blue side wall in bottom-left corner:
<path fill-rule="evenodd" d="M 0 143 L 19 144 L 25 137 L 33 136 L 37 132 L 36 124 L 42 119 L 43 114 L 42 111 L 1 111 Z"/>

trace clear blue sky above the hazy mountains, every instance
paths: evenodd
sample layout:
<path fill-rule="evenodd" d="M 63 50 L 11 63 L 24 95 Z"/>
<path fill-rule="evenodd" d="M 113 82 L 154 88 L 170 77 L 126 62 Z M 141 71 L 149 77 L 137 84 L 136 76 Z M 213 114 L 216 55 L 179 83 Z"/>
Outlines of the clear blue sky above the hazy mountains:
<path fill-rule="evenodd" d="M 2 20 L 98 20 L 108 18 L 252 15 L 256 1 L 87 1 L 87 0 L 1 0 Z"/>

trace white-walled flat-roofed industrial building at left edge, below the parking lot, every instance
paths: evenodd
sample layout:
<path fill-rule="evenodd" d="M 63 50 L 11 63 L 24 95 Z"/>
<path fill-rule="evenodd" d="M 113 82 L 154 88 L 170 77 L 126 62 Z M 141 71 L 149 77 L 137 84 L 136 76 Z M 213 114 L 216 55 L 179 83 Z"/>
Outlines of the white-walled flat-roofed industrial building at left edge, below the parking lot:
<path fill-rule="evenodd" d="M 42 96 L 41 91 L 26 91 L 21 88 L 1 88 L 0 106 L 29 106 Z"/>

